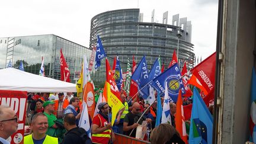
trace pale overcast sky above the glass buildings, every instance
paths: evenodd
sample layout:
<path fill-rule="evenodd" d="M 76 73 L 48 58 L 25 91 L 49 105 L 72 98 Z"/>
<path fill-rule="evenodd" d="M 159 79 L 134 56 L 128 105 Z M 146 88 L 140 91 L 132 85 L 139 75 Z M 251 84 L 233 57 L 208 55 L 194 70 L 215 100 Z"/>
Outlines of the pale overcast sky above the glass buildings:
<path fill-rule="evenodd" d="M 140 8 L 143 21 L 162 23 L 162 14 L 180 14 L 192 23 L 192 43 L 196 56 L 215 52 L 217 33 L 217 0 L 23 0 L 1 1 L 0 37 L 55 34 L 89 47 L 91 18 L 114 9 Z"/>

